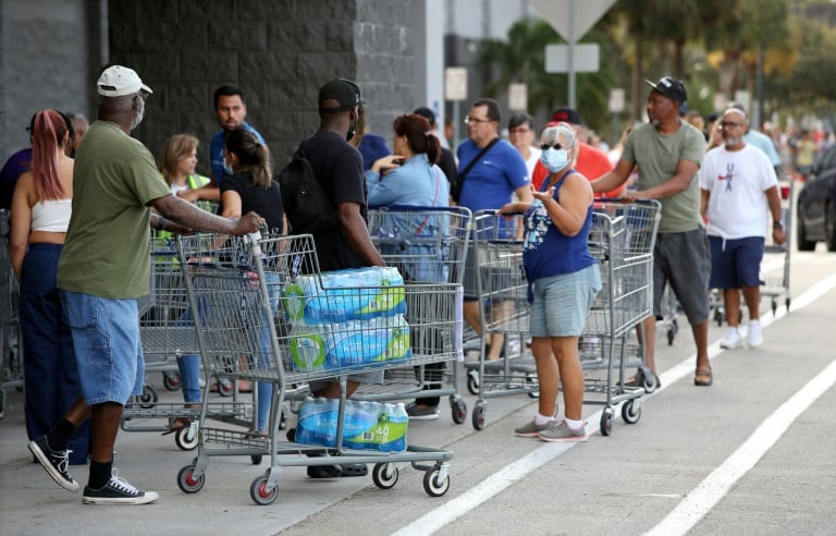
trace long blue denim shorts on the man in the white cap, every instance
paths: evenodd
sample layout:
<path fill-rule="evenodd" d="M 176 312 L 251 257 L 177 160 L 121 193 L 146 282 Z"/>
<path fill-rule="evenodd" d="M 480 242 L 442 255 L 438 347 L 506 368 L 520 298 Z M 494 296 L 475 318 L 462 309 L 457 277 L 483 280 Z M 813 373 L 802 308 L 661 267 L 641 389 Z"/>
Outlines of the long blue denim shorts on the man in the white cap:
<path fill-rule="evenodd" d="M 142 394 L 145 360 L 136 300 L 62 290 L 61 303 L 73 331 L 84 403 L 124 405 L 132 394 Z"/>

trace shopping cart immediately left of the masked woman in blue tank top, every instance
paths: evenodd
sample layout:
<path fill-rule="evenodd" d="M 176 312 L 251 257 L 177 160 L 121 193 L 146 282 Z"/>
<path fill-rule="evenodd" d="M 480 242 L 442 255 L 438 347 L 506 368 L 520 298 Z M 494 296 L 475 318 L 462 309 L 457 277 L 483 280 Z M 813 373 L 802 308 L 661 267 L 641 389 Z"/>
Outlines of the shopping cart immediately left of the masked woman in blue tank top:
<path fill-rule="evenodd" d="M 479 296 L 479 360 L 465 362 L 467 389 L 478 397 L 471 424 L 484 428 L 485 400 L 526 393 L 537 398 L 537 366 L 519 344 L 515 355 L 488 361 L 487 344 L 492 333 L 525 341 L 529 333 L 528 283 L 522 271 L 522 216 L 503 216 L 495 210 L 476 212 L 471 224 L 470 258 L 466 277 L 476 279 Z"/>

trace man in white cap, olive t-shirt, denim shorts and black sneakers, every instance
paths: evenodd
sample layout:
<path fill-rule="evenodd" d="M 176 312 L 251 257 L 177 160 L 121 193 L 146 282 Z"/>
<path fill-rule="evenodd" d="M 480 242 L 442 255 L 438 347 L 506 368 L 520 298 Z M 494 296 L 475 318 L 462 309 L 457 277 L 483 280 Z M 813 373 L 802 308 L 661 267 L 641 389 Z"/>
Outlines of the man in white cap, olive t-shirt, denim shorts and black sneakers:
<path fill-rule="evenodd" d="M 136 489 L 112 467 L 123 406 L 144 383 L 136 299 L 149 291 L 149 226 L 239 235 L 260 229 L 263 219 L 250 212 L 226 220 L 171 194 L 151 154 L 130 136 L 151 94 L 136 72 L 112 65 L 99 76 L 97 92 L 98 120 L 76 153 L 73 212 L 58 267 L 83 397 L 28 448 L 56 483 L 78 491 L 66 468 L 66 444 L 75 427 L 91 417 L 90 473 L 82 502 L 144 504 L 157 500 L 157 492 Z"/>

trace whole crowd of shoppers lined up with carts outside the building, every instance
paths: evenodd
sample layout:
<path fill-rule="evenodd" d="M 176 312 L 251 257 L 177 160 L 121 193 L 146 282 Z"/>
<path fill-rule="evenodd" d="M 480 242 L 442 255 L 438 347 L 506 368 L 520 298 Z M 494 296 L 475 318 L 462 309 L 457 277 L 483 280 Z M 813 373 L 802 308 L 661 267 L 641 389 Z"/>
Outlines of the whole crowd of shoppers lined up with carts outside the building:
<path fill-rule="evenodd" d="M 310 162 L 334 207 L 333 223 L 312 233 L 321 270 L 385 266 L 369 234 L 370 206 L 458 205 L 472 212 L 522 214 L 522 267 L 540 400 L 533 418 L 515 431 L 544 441 L 583 441 L 578 343 L 602 288 L 587 244 L 593 200 L 655 199 L 662 208 L 653 252 L 653 315 L 643 321 L 644 364 L 653 378 L 639 371 L 627 383 L 659 383 L 655 321 L 669 287 L 692 328 L 693 382 L 711 386 L 709 289 L 722 289 L 729 313 L 723 345 L 742 345 L 736 315 L 741 292 L 749 309 L 747 343 L 763 343 L 759 265 L 770 219 L 772 240 L 786 240 L 776 175 L 782 162 L 761 147 L 740 107 L 729 107 L 713 124 L 710 118 L 703 132 L 701 118 L 684 112 L 687 90 L 681 81 L 665 76 L 648 85 L 649 122 L 630 125 L 611 150 L 595 146 L 579 113 L 569 108 L 556 110 L 539 136 L 530 115 L 512 115 L 505 139 L 500 134 L 500 105 L 489 98 L 471 102 L 465 118 L 467 139 L 451 150 L 426 107 L 394 118 L 390 149 L 384 136 L 366 124 L 359 86 L 345 78 L 325 83 L 318 94 L 319 127 L 296 150 Z M 89 459 L 83 502 L 140 504 L 158 495 L 118 476 L 113 446 L 124 404 L 144 383 L 136 299 L 148 293 L 149 230 L 237 235 L 267 226 L 270 233 L 283 235 L 293 228 L 273 180 L 269 149 L 246 121 L 243 89 L 224 85 L 214 92 L 220 130 L 209 144 L 210 176 L 202 176 L 196 172 L 196 137 L 171 136 L 155 161 L 130 136 L 152 94 L 135 71 L 111 65 L 96 88 L 99 105 L 93 125 L 41 110 L 29 127 L 29 154 L 16 154 L 7 165 L 20 170 L 10 203 L 10 251 L 26 326 L 28 448 L 71 491 L 81 486 L 69 465 Z M 799 133 L 791 145 L 792 165 L 801 173 L 815 154 L 808 138 Z M 30 165 L 24 166 L 26 158 Z M 214 207 L 209 203 L 219 204 L 217 216 L 206 210 Z M 484 358 L 499 360 L 505 354 L 503 334 L 481 333 L 477 263 L 478 255 L 468 254 L 463 316 L 487 341 Z M 415 267 L 413 273 L 422 271 Z M 443 276 L 427 279 L 438 282 Z M 507 306 L 492 304 L 490 314 L 503 315 Z M 57 328 L 59 338 L 53 337 Z M 199 357 L 181 356 L 179 366 L 186 407 L 200 407 Z M 428 386 L 432 388 L 439 370 L 428 369 L 435 374 Z M 381 381 L 382 373 L 374 371 L 351 376 L 345 393 L 335 381 L 316 382 L 310 389 L 333 399 L 351 397 L 360 383 Z M 267 433 L 272 388 L 269 382 L 255 388 L 255 435 Z M 564 418 L 557 417 L 561 391 Z M 407 413 L 416 419 L 438 418 L 438 397 L 421 397 Z M 188 424 L 186 417 L 172 419 L 168 431 Z M 308 475 L 355 476 L 366 471 L 364 464 L 318 465 L 308 467 Z"/>

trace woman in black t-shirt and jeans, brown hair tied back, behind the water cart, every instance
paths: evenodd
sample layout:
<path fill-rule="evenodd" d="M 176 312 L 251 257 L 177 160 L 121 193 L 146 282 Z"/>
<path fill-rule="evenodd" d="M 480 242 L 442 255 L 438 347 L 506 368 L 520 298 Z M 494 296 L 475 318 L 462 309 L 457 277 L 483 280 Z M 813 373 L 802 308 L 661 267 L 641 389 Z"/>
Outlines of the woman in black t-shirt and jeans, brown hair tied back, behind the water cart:
<path fill-rule="evenodd" d="M 284 218 L 284 205 L 279 183 L 272 180 L 270 166 L 270 151 L 258 143 L 251 133 L 237 129 L 230 132 L 226 137 L 226 146 L 223 150 L 224 169 L 231 176 L 221 183 L 221 205 L 224 218 L 241 218 L 250 210 L 257 211 L 267 220 L 269 234 L 287 234 L 287 223 Z M 268 289 L 278 289 L 278 281 L 273 283 L 267 275 Z M 273 296 L 271 296 L 273 299 Z M 278 305 L 278 296 L 274 296 Z M 266 319 L 262 318 L 262 325 Z M 259 332 L 258 367 L 267 366 L 270 350 L 270 332 Z M 267 431 L 267 419 L 270 414 L 270 402 L 273 394 L 273 385 L 268 381 L 259 381 L 257 391 L 258 407 L 255 434 L 263 435 Z"/>

